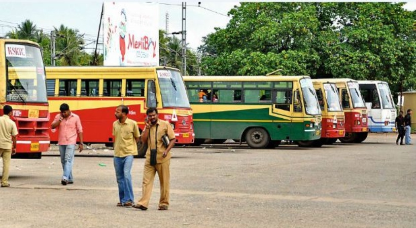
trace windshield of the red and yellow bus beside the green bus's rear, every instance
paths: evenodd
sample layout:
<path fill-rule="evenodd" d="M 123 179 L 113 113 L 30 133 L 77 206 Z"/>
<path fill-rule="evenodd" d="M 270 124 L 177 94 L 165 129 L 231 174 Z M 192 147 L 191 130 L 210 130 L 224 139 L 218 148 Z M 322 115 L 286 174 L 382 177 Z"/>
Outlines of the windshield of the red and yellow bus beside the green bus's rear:
<path fill-rule="evenodd" d="M 162 94 L 163 107 L 190 108 L 185 84 L 178 71 L 161 69 L 157 70 L 160 93 Z"/>

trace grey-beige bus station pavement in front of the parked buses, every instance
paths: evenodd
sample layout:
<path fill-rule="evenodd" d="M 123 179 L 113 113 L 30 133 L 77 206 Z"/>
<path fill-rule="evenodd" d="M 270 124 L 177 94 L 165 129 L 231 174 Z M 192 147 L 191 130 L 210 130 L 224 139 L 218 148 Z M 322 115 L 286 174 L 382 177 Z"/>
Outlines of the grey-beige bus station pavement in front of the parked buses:
<path fill-rule="evenodd" d="M 396 145 L 395 137 L 370 134 L 360 144 L 321 148 L 178 146 L 167 211 L 157 210 L 157 175 L 147 211 L 116 207 L 114 151 L 100 145 L 76 153 L 74 184 L 61 185 L 52 146 L 41 160 L 11 161 L 11 186 L 0 188 L 0 227 L 413 228 L 416 147 Z M 133 162 L 135 201 L 144 161 Z"/>

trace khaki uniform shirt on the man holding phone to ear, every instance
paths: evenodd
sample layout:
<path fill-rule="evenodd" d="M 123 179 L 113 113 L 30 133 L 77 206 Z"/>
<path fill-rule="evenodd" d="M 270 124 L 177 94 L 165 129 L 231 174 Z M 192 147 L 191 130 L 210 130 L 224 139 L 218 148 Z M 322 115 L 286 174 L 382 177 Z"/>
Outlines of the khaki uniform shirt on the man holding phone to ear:
<path fill-rule="evenodd" d="M 162 136 L 167 134 L 169 140 L 175 139 L 175 132 L 172 126 L 166 121 L 157 120 L 157 123 L 150 127 L 149 129 L 149 137 L 147 138 L 147 151 L 146 151 L 146 160 L 150 162 L 150 149 L 154 149 L 155 146 L 155 133 L 156 133 L 156 125 L 157 127 L 157 156 L 156 156 L 156 163 L 164 163 L 170 159 L 170 151 L 167 153 L 166 157 L 162 157 L 163 151 L 165 151 L 166 147 L 163 145 Z"/>

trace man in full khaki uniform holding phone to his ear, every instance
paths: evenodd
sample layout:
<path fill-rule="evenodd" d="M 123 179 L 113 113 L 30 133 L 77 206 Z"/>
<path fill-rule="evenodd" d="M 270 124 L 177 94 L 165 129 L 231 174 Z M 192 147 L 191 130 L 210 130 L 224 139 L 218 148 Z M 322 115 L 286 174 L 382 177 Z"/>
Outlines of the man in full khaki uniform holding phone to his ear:
<path fill-rule="evenodd" d="M 175 145 L 175 132 L 172 126 L 166 121 L 159 120 L 156 108 L 149 108 L 146 111 L 148 121 L 145 122 L 146 127 L 142 132 L 142 143 L 148 144 L 146 151 L 145 168 L 143 171 L 143 191 L 142 199 L 138 201 L 134 208 L 147 210 L 149 200 L 152 195 L 153 181 L 155 174 L 159 175 L 160 181 L 160 199 L 159 210 L 167 210 L 169 206 L 169 165 L 170 165 L 170 149 Z M 167 134 L 169 144 L 164 146 L 162 136 Z M 156 165 L 150 164 L 150 151 L 155 149 Z"/>

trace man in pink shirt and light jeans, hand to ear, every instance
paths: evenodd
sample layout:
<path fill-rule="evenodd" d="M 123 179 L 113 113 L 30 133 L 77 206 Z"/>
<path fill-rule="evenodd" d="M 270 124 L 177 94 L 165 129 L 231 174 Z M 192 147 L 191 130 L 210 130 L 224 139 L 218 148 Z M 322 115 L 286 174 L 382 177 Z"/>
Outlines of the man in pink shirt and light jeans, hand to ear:
<path fill-rule="evenodd" d="M 80 138 L 80 152 L 84 149 L 83 134 L 81 120 L 78 115 L 70 111 L 70 106 L 63 103 L 59 107 L 60 114 L 55 116 L 51 128 L 58 128 L 58 144 L 63 175 L 61 184 L 72 184 L 74 178 L 72 176 L 72 167 L 74 165 L 75 145 L 77 144 L 77 134 Z"/>

